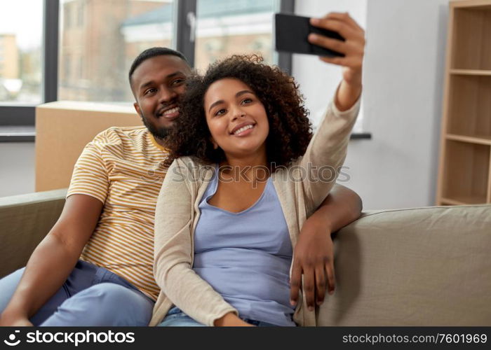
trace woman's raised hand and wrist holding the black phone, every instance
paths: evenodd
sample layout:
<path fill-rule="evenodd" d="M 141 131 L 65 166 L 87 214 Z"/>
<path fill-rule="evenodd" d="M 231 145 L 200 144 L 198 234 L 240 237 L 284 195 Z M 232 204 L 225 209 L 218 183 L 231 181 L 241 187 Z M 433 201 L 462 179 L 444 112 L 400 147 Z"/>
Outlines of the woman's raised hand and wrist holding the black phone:
<path fill-rule="evenodd" d="M 324 62 L 343 66 L 343 80 L 336 94 L 340 111 L 351 108 L 361 94 L 365 31 L 348 13 L 329 13 L 323 18 L 311 18 L 315 27 L 337 31 L 345 41 L 318 34 L 309 34 L 309 42 L 344 54 L 344 57 L 320 57 Z"/>

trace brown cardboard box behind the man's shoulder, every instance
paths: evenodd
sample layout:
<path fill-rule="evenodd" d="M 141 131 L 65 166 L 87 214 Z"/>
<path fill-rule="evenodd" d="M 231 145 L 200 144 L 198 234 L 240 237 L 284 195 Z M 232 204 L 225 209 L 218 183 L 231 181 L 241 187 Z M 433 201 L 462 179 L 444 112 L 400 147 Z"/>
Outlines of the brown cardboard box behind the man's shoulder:
<path fill-rule="evenodd" d="M 36 107 L 36 192 L 67 188 L 83 147 L 108 127 L 143 125 L 133 105 L 51 102 Z"/>

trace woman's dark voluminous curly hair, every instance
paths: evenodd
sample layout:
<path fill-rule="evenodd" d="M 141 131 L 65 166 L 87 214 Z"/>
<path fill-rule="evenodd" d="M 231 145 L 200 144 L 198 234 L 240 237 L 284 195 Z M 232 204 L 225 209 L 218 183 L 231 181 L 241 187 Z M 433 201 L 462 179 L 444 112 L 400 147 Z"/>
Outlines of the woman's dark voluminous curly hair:
<path fill-rule="evenodd" d="M 170 149 L 166 165 L 185 155 L 208 164 L 225 160 L 224 151 L 213 148 L 204 109 L 208 87 L 223 78 L 241 80 L 264 105 L 269 122 L 267 160 L 273 171 L 304 155 L 312 127 L 295 80 L 277 66 L 262 63 L 262 57 L 233 55 L 211 64 L 204 76 L 194 73 L 187 78 L 187 90 L 180 100 L 180 117 L 166 139 Z"/>

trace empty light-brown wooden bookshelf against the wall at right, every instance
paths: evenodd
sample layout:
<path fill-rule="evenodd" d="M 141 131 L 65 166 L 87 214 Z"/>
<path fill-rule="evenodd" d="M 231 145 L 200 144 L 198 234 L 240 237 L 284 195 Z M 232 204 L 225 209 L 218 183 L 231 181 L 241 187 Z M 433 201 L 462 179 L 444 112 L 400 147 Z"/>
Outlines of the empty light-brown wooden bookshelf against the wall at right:
<path fill-rule="evenodd" d="M 438 205 L 491 203 L 491 0 L 450 2 Z"/>

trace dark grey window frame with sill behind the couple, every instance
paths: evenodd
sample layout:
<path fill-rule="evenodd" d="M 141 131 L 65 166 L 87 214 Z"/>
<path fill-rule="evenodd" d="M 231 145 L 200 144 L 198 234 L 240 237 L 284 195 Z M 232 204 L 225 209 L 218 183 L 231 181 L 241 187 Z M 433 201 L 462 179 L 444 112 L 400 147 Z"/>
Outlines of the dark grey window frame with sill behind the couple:
<path fill-rule="evenodd" d="M 294 13 L 295 0 L 278 0 L 281 13 Z M 181 51 L 194 66 L 194 41 L 191 41 L 191 21 L 196 18 L 197 0 L 175 0 L 174 36 L 177 50 Z M 41 55 L 42 91 L 41 102 L 58 101 L 58 59 L 60 40 L 60 0 L 44 0 L 43 2 L 43 45 Z M 291 73 L 292 55 L 278 53 L 278 66 Z M 0 102 L 0 127 L 35 125 L 36 106 L 39 104 L 10 104 Z"/>

